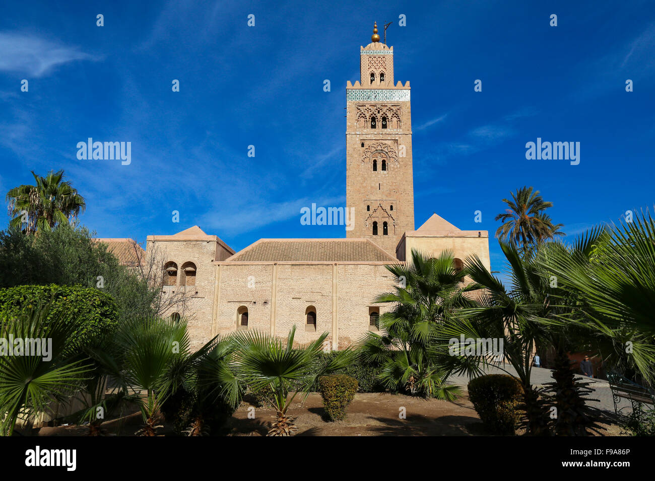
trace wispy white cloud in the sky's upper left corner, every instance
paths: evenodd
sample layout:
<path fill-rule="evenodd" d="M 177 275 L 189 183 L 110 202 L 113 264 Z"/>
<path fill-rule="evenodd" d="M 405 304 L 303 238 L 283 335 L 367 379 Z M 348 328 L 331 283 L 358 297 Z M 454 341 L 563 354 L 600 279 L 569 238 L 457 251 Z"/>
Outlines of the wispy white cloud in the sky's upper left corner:
<path fill-rule="evenodd" d="M 0 71 L 20 72 L 43 77 L 59 65 L 77 60 L 94 60 L 94 56 L 36 35 L 0 32 Z"/>

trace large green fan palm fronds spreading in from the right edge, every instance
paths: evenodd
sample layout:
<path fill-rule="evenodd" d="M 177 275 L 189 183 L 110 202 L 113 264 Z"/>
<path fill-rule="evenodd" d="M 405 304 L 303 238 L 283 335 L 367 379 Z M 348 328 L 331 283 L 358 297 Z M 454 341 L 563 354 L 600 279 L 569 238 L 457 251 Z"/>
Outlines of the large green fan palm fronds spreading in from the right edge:
<path fill-rule="evenodd" d="M 603 229 L 604 227 L 596 228 Z M 605 362 L 646 383 L 655 382 L 655 221 L 650 214 L 607 230 L 605 240 L 587 241 L 571 252 L 554 250 L 540 264 L 564 289 L 580 298 L 580 316 L 602 343 Z"/>

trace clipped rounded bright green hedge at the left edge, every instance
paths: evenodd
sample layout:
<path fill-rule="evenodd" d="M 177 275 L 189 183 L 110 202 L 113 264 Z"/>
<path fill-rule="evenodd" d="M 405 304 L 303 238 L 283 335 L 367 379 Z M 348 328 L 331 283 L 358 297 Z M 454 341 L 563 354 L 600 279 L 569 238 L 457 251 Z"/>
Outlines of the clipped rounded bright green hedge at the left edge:
<path fill-rule="evenodd" d="M 47 319 L 60 315 L 74 317 L 79 327 L 70 336 L 65 351 L 76 352 L 96 336 L 118 325 L 116 302 L 100 289 L 62 285 L 19 285 L 0 289 L 0 318 L 18 316 L 24 310 L 50 304 Z"/>

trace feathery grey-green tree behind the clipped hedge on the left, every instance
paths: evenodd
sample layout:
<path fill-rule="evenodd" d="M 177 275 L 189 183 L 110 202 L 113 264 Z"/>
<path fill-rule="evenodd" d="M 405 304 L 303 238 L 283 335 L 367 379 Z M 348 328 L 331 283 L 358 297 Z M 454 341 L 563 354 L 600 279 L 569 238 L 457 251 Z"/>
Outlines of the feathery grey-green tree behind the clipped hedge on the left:
<path fill-rule="evenodd" d="M 86 228 L 60 225 L 52 231 L 26 236 L 10 228 L 0 232 L 0 287 L 18 285 L 81 285 L 96 289 L 103 277 L 101 292 L 114 298 L 119 317 L 151 317 L 159 295 L 134 270 L 121 266 L 107 245 L 93 240 Z"/>

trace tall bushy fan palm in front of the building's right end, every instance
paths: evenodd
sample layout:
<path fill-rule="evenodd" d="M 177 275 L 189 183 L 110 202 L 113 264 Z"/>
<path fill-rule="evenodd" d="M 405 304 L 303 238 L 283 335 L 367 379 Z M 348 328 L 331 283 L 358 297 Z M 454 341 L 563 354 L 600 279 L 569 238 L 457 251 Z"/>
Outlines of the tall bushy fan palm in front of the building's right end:
<path fill-rule="evenodd" d="M 411 258 L 409 264 L 386 266 L 396 286 L 375 302 L 393 302 L 394 308 L 379 317 L 381 334 L 367 332 L 360 340 L 362 359 L 381 365 L 378 378 L 389 389 L 455 399 L 459 387 L 445 382 L 453 359 L 447 347 L 435 345 L 434 337 L 456 308 L 471 305 L 464 295 L 471 289 L 464 287 L 466 273 L 450 251 L 433 258 L 413 249 Z"/>

